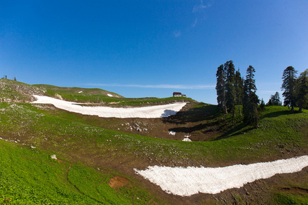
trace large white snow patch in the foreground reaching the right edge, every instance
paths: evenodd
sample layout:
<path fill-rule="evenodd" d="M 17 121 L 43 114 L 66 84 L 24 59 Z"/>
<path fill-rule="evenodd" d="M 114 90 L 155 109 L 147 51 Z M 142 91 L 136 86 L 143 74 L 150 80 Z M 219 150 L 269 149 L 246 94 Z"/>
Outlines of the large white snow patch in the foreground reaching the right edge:
<path fill-rule="evenodd" d="M 135 169 L 137 174 L 157 184 L 167 193 L 190 196 L 196 193 L 220 193 L 240 188 L 248 182 L 275 174 L 299 172 L 308 166 L 308 155 L 250 165 L 229 167 L 159 167 Z"/>

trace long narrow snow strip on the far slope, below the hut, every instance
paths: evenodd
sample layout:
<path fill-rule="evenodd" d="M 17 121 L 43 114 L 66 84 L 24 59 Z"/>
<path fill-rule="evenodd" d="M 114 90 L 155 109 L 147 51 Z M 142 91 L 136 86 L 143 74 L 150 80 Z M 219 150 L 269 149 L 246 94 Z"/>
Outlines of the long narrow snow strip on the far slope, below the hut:
<path fill-rule="evenodd" d="M 59 109 L 66 111 L 81 113 L 83 115 L 98 115 L 101 118 L 165 118 L 175 115 L 185 105 L 185 102 L 173 103 L 168 105 L 155 105 L 151 107 L 88 107 L 81 106 L 77 102 L 68 102 L 47 96 L 36 96 L 36 100 L 32 103 L 52 104 Z"/>

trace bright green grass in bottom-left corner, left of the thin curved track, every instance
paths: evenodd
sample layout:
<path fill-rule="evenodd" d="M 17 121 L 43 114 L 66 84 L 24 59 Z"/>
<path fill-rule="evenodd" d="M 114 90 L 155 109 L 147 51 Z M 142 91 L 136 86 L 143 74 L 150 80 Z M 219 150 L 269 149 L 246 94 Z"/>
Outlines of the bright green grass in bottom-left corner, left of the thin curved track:
<path fill-rule="evenodd" d="M 48 154 L 0 141 L 0 203 L 10 204 L 87 204 L 66 180 L 66 165 Z"/>

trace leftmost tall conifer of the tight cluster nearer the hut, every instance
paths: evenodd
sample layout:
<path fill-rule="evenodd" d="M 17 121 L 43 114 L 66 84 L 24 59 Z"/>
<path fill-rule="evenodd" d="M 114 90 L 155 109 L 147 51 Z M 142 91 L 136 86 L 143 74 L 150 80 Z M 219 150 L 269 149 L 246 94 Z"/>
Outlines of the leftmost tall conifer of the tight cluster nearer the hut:
<path fill-rule="evenodd" d="M 224 66 L 220 65 L 217 68 L 216 72 L 216 78 L 217 78 L 217 83 L 216 83 L 216 93 L 217 93 L 217 102 L 218 102 L 218 107 L 222 109 L 225 113 L 227 113 L 227 106 L 226 106 L 226 77 L 224 74 Z"/>

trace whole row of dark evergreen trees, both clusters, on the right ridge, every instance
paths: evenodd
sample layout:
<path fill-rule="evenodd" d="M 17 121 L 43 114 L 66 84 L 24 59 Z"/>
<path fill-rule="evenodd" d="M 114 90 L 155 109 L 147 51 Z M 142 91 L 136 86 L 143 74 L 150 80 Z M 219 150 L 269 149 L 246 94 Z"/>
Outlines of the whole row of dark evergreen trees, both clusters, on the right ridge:
<path fill-rule="evenodd" d="M 241 77 L 240 70 L 234 68 L 233 61 L 227 61 L 218 67 L 216 72 L 216 92 L 218 107 L 224 113 L 233 113 L 235 118 L 235 109 L 243 107 L 244 122 L 258 124 L 258 105 L 259 97 L 256 94 L 255 68 L 248 66 L 246 70 L 246 79 Z M 297 71 L 289 66 L 283 71 L 283 105 L 290 106 L 291 112 L 294 107 L 308 109 L 308 69 L 296 77 Z M 267 105 L 281 105 L 279 93 L 272 95 Z M 264 107 L 264 101 L 261 100 L 261 107 Z"/>

